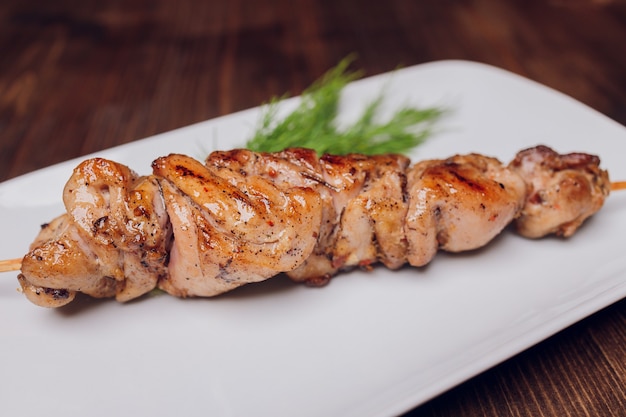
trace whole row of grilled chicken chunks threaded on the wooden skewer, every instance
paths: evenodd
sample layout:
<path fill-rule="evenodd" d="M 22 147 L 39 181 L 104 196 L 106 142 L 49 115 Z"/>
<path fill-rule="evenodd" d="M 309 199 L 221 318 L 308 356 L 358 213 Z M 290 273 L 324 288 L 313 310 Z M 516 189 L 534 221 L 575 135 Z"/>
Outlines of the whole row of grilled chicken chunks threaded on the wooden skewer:
<path fill-rule="evenodd" d="M 66 213 L 22 260 L 30 301 L 59 307 L 82 292 L 124 302 L 155 288 L 208 297 L 280 273 L 319 286 L 375 263 L 420 267 L 438 250 L 480 248 L 510 223 L 529 238 L 570 236 L 611 189 L 598 157 L 546 146 L 509 164 L 236 149 L 204 163 L 171 154 L 152 170 L 102 158 L 75 168 Z"/>

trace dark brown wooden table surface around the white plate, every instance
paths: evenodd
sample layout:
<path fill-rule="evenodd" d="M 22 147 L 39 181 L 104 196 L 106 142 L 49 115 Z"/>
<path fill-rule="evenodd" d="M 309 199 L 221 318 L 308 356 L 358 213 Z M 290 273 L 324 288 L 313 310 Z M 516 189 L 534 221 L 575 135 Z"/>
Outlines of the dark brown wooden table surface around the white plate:
<path fill-rule="evenodd" d="M 298 94 L 351 53 L 365 75 L 489 63 L 626 124 L 624 0 L 4 0 L 0 181 Z M 626 300 L 409 415 L 625 416 Z"/>

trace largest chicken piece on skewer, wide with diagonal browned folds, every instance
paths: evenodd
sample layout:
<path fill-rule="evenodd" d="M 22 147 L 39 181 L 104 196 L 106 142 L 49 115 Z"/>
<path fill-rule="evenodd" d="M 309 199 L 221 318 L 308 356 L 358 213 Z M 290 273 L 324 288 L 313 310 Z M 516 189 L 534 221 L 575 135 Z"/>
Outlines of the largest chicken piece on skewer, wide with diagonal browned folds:
<path fill-rule="evenodd" d="M 159 158 L 153 169 L 174 232 L 169 276 L 159 285 L 165 291 L 220 294 L 291 271 L 313 250 L 321 204 L 312 189 L 183 155 Z"/>

